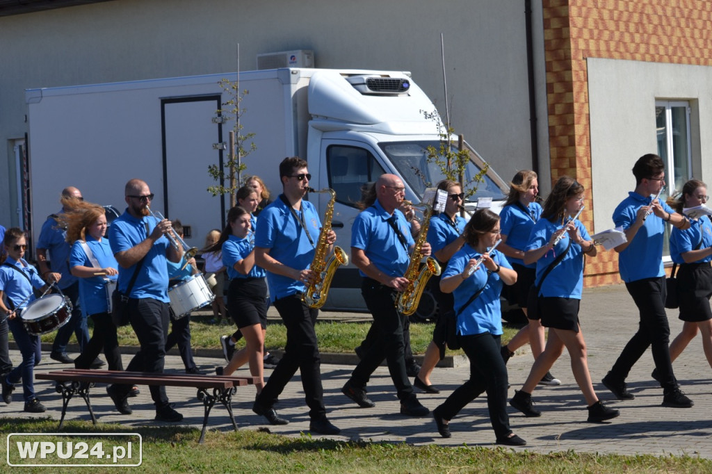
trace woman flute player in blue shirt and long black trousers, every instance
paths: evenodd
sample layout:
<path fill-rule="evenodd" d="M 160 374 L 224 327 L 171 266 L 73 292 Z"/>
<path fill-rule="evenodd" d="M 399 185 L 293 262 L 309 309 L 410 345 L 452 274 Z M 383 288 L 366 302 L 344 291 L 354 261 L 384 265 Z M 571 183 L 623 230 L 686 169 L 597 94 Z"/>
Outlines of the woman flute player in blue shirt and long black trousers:
<path fill-rule="evenodd" d="M 449 421 L 483 391 L 498 444 L 524 446 L 509 427 L 507 367 L 500 354 L 502 284 L 513 284 L 517 273 L 499 251 L 488 250 L 499 238 L 499 216 L 489 209 L 473 214 L 465 226 L 466 245 L 455 253 L 440 280 L 443 293 L 453 293 L 457 337 L 470 359 L 470 379 L 433 410 L 438 432 L 450 437 Z M 478 265 L 478 259 L 481 264 Z M 481 292 L 470 302 L 472 295 Z"/>

